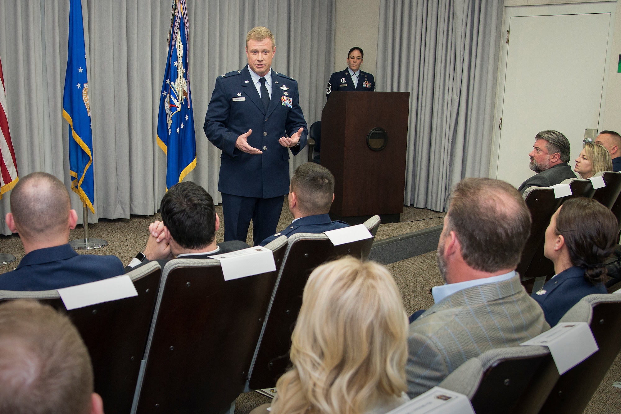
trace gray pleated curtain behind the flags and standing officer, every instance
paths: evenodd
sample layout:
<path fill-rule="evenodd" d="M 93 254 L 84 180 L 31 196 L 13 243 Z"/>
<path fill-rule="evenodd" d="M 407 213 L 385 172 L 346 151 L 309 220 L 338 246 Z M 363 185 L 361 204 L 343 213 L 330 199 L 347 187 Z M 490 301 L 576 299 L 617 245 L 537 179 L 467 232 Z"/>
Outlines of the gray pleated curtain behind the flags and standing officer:
<path fill-rule="evenodd" d="M 155 143 L 172 0 L 82 0 L 97 218 L 153 214 L 166 192 L 166 156 Z M 335 0 L 187 0 L 189 80 L 197 165 L 186 180 L 217 192 L 220 151 L 202 131 L 215 78 L 243 68 L 248 30 L 276 37 L 272 67 L 299 84 L 309 126 L 320 120 L 332 73 Z M 68 126 L 61 117 L 68 0 L 0 0 L 0 57 L 19 176 L 56 175 L 70 188 Z M 292 157 L 289 168 L 307 161 Z M 72 206 L 81 202 L 71 192 Z M 0 200 L 0 234 L 10 211 Z"/>

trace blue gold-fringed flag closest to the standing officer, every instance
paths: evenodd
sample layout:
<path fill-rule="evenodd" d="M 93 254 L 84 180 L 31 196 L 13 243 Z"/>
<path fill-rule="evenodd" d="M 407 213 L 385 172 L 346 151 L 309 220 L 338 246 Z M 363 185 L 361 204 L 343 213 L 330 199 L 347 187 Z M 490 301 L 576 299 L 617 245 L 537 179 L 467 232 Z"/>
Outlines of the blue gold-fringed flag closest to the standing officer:
<path fill-rule="evenodd" d="M 173 0 L 168 57 L 161 87 L 157 143 L 166 154 L 166 189 L 196 167 L 194 116 L 188 76 L 188 12 L 186 0 Z"/>

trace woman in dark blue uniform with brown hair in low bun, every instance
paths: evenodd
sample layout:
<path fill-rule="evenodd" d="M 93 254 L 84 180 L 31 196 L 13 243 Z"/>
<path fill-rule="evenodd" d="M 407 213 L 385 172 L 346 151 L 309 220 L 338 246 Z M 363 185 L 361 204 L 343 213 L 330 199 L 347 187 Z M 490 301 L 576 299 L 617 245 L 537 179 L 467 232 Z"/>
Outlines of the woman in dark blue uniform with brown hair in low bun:
<path fill-rule="evenodd" d="M 556 275 L 532 295 L 551 327 L 582 297 L 607 293 L 604 262 L 614 252 L 617 231 L 612 211 L 591 198 L 571 198 L 556 210 L 543 247 Z"/>

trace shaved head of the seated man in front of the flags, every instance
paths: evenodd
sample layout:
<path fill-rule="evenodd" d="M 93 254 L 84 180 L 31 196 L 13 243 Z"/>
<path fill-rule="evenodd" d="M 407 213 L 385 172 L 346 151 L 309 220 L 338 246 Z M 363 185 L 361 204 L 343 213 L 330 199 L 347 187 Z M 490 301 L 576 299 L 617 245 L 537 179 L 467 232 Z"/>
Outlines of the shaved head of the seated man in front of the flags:
<path fill-rule="evenodd" d="M 65 230 L 70 209 L 65 185 L 47 172 L 26 175 L 11 192 L 11 213 L 20 236 L 33 238 Z"/>

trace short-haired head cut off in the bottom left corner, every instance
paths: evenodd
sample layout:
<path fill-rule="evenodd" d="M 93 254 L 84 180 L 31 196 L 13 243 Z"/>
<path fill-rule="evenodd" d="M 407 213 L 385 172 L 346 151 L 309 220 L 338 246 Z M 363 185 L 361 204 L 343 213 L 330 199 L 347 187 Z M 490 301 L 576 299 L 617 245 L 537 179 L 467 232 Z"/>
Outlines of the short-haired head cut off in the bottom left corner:
<path fill-rule="evenodd" d="M 88 414 L 93 368 L 71 320 L 37 301 L 0 304 L 0 412 Z"/>

